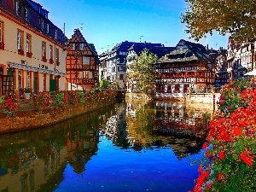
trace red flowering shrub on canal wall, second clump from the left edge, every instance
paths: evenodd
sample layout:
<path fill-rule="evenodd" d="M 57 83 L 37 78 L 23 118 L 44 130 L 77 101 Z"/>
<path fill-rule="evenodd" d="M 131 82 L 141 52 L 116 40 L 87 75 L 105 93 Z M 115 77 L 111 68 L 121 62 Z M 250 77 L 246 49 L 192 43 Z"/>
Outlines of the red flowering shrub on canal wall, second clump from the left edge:
<path fill-rule="evenodd" d="M 35 98 L 35 106 L 38 109 L 38 111 L 42 113 L 44 109 L 49 108 L 51 105 L 52 101 L 49 96 L 49 93 L 46 91 L 39 92 L 38 96 L 36 96 Z"/>

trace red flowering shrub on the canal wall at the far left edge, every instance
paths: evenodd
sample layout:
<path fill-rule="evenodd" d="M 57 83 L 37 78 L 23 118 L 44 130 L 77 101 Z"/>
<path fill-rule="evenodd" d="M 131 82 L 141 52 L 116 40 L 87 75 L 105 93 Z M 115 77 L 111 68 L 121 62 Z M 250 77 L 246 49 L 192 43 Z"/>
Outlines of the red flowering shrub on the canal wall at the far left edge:
<path fill-rule="evenodd" d="M 18 110 L 19 104 L 15 96 L 1 96 L 0 108 L 3 109 L 3 113 L 5 113 L 7 117 L 15 117 L 15 112 Z"/>

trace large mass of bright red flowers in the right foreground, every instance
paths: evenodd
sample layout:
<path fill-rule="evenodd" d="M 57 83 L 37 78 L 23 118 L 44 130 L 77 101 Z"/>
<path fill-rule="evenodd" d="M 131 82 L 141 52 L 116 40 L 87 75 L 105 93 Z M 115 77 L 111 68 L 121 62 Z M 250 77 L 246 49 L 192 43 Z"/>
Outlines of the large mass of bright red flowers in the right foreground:
<path fill-rule="evenodd" d="M 234 93 L 231 84 L 224 89 L 230 87 Z M 230 107 L 225 113 L 228 115 L 215 117 L 208 126 L 203 146 L 206 159 L 199 168 L 194 191 L 256 191 L 256 90 L 235 89 L 238 93 L 232 96 L 239 98 L 233 98 L 228 90 L 224 90 L 225 96 L 239 107 Z M 230 103 L 223 101 L 222 105 Z"/>

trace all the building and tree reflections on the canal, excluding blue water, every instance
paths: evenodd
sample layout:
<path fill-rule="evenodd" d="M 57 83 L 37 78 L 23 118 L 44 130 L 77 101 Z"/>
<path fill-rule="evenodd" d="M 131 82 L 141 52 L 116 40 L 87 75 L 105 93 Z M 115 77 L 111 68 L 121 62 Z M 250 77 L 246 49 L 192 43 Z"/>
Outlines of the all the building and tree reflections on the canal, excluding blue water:
<path fill-rule="evenodd" d="M 206 121 L 181 104 L 125 103 L 58 125 L 0 136 L 0 191 L 53 191 L 67 165 L 83 174 L 99 137 L 121 149 L 170 148 L 178 159 L 198 153 Z"/>

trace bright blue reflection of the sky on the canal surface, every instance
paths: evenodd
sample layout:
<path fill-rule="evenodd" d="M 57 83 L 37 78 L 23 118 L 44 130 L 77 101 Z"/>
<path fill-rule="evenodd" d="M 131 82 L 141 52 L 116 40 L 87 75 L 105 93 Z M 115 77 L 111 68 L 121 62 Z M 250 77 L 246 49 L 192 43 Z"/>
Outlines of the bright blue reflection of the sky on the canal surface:
<path fill-rule="evenodd" d="M 192 160 L 178 160 L 172 148 L 120 149 L 106 137 L 100 138 L 99 150 L 85 165 L 85 172 L 76 174 L 67 165 L 64 179 L 55 191 L 188 191 L 193 189 L 198 176 L 198 165 Z"/>

